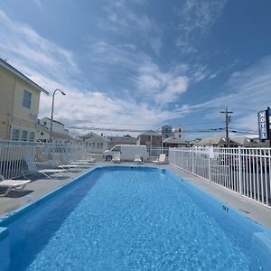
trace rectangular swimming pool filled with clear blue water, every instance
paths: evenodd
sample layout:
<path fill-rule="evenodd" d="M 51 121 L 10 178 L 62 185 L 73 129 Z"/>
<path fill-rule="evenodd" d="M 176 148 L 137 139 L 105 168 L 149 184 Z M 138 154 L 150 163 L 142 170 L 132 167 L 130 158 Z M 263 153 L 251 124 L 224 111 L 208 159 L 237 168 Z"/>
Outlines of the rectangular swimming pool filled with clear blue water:
<path fill-rule="evenodd" d="M 97 168 L 0 225 L 11 271 L 271 266 L 270 232 L 161 169 Z"/>

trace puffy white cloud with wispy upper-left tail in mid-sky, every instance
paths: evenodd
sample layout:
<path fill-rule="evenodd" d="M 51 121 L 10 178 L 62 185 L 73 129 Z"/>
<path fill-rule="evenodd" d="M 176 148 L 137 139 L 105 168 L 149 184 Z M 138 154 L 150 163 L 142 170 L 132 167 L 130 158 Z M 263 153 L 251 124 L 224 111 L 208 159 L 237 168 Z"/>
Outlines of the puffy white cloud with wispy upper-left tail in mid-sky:
<path fill-rule="evenodd" d="M 101 70 L 108 70 L 110 65 L 112 67 L 118 65 L 135 74 L 130 76 L 130 79 L 135 83 L 135 89 L 141 93 L 141 98 L 149 102 L 165 105 L 178 98 L 187 89 L 188 78 L 180 76 L 188 71 L 187 64 L 178 64 L 173 71 L 162 72 L 145 53 L 136 51 L 135 46 L 131 44 L 115 45 L 99 41 L 94 42 L 89 49 L 89 60 L 94 61 L 96 67 L 100 65 Z M 195 69 L 198 73 L 193 75 L 194 80 L 202 77 L 200 72 L 204 72 L 201 67 Z M 137 94 L 133 95 L 136 97 Z M 168 97 L 164 99 L 165 96 Z"/>

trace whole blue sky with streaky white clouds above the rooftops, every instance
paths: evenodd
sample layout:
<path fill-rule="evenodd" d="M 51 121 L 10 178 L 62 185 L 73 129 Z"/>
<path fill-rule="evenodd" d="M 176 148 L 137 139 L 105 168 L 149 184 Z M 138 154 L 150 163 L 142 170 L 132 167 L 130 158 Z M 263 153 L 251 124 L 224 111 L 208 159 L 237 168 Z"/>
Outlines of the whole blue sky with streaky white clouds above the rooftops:
<path fill-rule="evenodd" d="M 222 135 L 199 131 L 224 127 L 229 107 L 248 133 L 271 106 L 270 14 L 269 0 L 2 0 L 0 57 L 67 93 L 54 115 L 67 126 Z"/>

